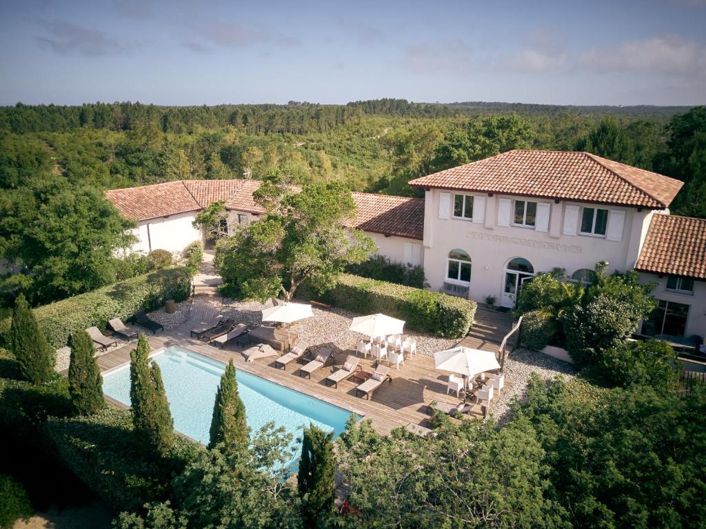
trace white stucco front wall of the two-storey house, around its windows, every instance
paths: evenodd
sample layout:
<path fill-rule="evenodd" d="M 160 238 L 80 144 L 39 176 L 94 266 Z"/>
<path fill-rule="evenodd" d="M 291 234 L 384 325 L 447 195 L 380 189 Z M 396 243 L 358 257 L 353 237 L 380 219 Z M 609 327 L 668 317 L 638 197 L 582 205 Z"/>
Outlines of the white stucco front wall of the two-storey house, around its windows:
<path fill-rule="evenodd" d="M 439 218 L 439 196 L 450 193 L 451 211 L 448 219 Z M 465 250 L 472 261 L 469 297 L 483 301 L 486 296 L 494 296 L 501 302 L 504 269 L 516 257 L 532 263 L 534 273 L 551 271 L 551 268 L 565 268 L 571 275 L 580 268 L 594 268 L 597 261 L 608 261 L 609 271 L 625 271 L 633 268 L 638 257 L 639 240 L 644 237 L 649 222 L 649 210 L 638 212 L 636 208 L 599 206 L 609 210 L 621 210 L 625 221 L 620 241 L 604 237 L 591 237 L 580 234 L 564 234 L 564 211 L 567 206 L 590 206 L 568 201 L 539 201 L 548 204 L 549 222 L 546 231 L 526 227 L 498 225 L 500 199 L 511 201 L 513 196 L 478 194 L 485 197 L 485 211 L 476 222 L 453 218 L 453 191 L 432 189 L 426 191 L 424 216 L 424 271 L 432 290 L 443 286 L 447 270 L 447 258 L 453 249 Z"/>

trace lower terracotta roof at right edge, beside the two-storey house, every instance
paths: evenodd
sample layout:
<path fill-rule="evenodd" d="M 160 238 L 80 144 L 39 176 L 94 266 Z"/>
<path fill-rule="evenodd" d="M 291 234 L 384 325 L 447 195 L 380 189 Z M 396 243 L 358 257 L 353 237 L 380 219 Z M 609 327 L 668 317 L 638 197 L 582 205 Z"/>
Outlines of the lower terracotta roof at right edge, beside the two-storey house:
<path fill-rule="evenodd" d="M 706 280 L 706 219 L 652 215 L 635 269 Z"/>

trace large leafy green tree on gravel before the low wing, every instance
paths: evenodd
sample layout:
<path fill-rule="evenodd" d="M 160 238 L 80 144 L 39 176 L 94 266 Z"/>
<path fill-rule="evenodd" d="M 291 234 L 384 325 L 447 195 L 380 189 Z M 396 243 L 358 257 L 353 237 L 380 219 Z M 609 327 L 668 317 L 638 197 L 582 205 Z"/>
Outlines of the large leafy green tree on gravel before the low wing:
<path fill-rule="evenodd" d="M 356 206 L 338 182 L 301 191 L 263 182 L 253 196 L 267 210 L 264 218 L 222 239 L 215 256 L 224 283 L 241 295 L 289 300 L 304 281 L 323 289 L 376 249 L 366 234 L 346 227 Z"/>

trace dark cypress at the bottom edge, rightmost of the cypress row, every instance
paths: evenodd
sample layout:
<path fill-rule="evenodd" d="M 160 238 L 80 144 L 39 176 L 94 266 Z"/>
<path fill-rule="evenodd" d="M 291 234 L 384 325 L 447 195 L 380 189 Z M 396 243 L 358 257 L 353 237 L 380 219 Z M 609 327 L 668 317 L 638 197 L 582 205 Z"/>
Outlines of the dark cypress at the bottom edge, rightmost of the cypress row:
<path fill-rule="evenodd" d="M 301 498 L 304 527 L 315 528 L 316 521 L 333 511 L 335 501 L 335 461 L 333 432 L 328 434 L 309 424 L 301 440 L 297 488 Z"/>

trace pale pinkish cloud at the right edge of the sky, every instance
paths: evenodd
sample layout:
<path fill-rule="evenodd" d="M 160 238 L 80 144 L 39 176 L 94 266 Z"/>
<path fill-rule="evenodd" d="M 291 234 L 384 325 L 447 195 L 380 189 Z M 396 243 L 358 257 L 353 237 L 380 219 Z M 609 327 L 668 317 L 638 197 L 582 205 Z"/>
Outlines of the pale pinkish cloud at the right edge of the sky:
<path fill-rule="evenodd" d="M 702 77 L 706 71 L 706 47 L 681 37 L 653 37 L 591 49 L 581 55 L 579 64 L 597 72 L 662 72 Z"/>

